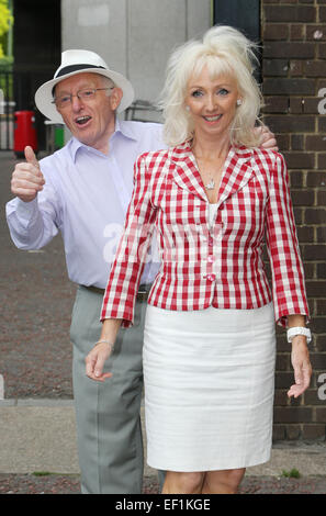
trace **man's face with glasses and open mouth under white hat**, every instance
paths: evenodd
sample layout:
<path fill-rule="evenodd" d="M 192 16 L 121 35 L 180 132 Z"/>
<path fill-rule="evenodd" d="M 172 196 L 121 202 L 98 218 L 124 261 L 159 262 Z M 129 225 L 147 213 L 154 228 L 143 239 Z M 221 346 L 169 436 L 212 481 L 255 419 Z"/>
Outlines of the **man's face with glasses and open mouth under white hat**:
<path fill-rule="evenodd" d="M 108 88 L 102 76 L 99 74 L 77 74 L 56 86 L 55 98 L 74 96 L 67 105 L 57 105 L 65 124 L 81 143 L 108 154 L 109 138 L 114 133 L 115 110 L 122 99 L 122 90 L 120 88 L 100 90 L 87 100 L 77 97 L 77 92 L 81 90 L 97 88 Z"/>

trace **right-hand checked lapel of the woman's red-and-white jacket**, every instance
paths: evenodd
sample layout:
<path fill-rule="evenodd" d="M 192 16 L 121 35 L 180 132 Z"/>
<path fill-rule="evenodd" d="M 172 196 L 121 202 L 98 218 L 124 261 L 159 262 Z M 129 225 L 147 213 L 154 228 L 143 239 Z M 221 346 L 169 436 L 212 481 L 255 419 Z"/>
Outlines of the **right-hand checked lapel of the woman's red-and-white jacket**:
<path fill-rule="evenodd" d="M 250 165 L 252 150 L 232 148 L 226 158 L 221 179 L 217 204 L 222 204 L 227 198 L 244 188 L 255 173 Z"/>

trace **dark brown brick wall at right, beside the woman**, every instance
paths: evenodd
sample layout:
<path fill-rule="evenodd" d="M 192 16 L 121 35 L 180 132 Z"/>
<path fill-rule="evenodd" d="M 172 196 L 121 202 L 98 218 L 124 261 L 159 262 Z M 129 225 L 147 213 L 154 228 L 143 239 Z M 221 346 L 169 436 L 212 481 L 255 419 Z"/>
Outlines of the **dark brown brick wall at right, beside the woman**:
<path fill-rule="evenodd" d="M 283 333 L 278 335 L 273 437 L 324 440 L 326 114 L 319 111 L 326 106 L 326 0 L 261 0 L 261 31 L 263 120 L 276 133 L 290 171 L 314 335 L 311 388 L 291 401 L 289 345 Z"/>

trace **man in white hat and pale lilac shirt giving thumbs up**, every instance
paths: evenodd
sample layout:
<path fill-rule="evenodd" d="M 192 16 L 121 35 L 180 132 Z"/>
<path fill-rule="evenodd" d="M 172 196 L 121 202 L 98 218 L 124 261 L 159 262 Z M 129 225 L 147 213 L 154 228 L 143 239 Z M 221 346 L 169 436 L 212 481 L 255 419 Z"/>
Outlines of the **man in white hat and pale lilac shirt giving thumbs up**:
<path fill-rule="evenodd" d="M 132 85 L 100 56 L 64 52 L 35 102 L 45 116 L 64 122 L 72 138 L 40 164 L 26 148 L 26 162 L 12 175 L 16 198 L 7 204 L 19 248 L 41 248 L 61 232 L 68 276 L 79 285 L 70 329 L 72 380 L 81 491 L 90 494 L 142 492 L 142 345 L 155 261 L 148 261 L 142 277 L 135 325 L 116 340 L 109 363 L 112 379 L 99 384 L 85 373 L 86 356 L 101 333 L 103 289 L 132 195 L 133 164 L 139 154 L 165 147 L 159 124 L 117 120 L 133 99 Z M 276 145 L 268 131 L 265 139 L 265 146 Z"/>

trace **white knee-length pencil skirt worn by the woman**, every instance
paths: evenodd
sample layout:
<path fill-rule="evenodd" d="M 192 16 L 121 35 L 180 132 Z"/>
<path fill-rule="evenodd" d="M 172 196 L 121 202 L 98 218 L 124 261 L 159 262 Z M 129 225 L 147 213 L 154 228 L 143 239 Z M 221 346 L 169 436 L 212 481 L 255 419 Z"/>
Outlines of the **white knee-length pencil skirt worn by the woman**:
<path fill-rule="evenodd" d="M 255 310 L 148 305 L 144 338 L 147 462 L 168 471 L 270 459 L 276 325 Z"/>

